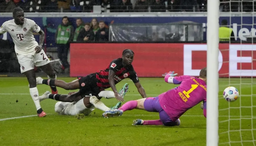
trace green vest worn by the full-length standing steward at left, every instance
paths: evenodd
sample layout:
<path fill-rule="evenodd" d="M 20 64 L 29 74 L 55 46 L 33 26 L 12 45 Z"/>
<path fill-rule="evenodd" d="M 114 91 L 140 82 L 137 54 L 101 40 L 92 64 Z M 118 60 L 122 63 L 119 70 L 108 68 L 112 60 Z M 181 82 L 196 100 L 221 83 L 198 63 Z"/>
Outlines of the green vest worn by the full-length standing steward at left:
<path fill-rule="evenodd" d="M 58 26 L 57 44 L 67 44 L 71 35 L 71 25 L 69 26 Z"/>

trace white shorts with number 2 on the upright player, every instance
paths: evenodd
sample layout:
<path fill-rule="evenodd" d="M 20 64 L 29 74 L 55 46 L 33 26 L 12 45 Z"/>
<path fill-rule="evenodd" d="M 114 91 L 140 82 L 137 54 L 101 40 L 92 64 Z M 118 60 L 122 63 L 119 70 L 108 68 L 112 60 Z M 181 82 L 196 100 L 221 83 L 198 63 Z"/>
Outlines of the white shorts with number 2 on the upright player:
<path fill-rule="evenodd" d="M 40 53 L 21 55 L 17 54 L 17 59 L 20 64 L 20 72 L 29 71 L 34 69 L 34 66 L 40 67 L 45 64 L 50 63 L 47 55 L 44 53 L 44 50 L 41 50 Z"/>

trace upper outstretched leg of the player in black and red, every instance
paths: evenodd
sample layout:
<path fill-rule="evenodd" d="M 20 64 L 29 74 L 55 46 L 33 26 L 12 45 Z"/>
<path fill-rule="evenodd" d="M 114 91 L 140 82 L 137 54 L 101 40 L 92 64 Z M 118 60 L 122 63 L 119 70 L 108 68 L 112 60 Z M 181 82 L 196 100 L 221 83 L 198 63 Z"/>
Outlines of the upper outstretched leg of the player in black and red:
<path fill-rule="evenodd" d="M 62 80 L 43 79 L 41 77 L 37 77 L 36 80 L 37 80 L 37 85 L 45 84 L 49 86 L 57 86 L 66 90 L 75 90 L 75 89 L 79 89 L 80 87 L 78 80 L 74 80 L 68 83 Z"/>

